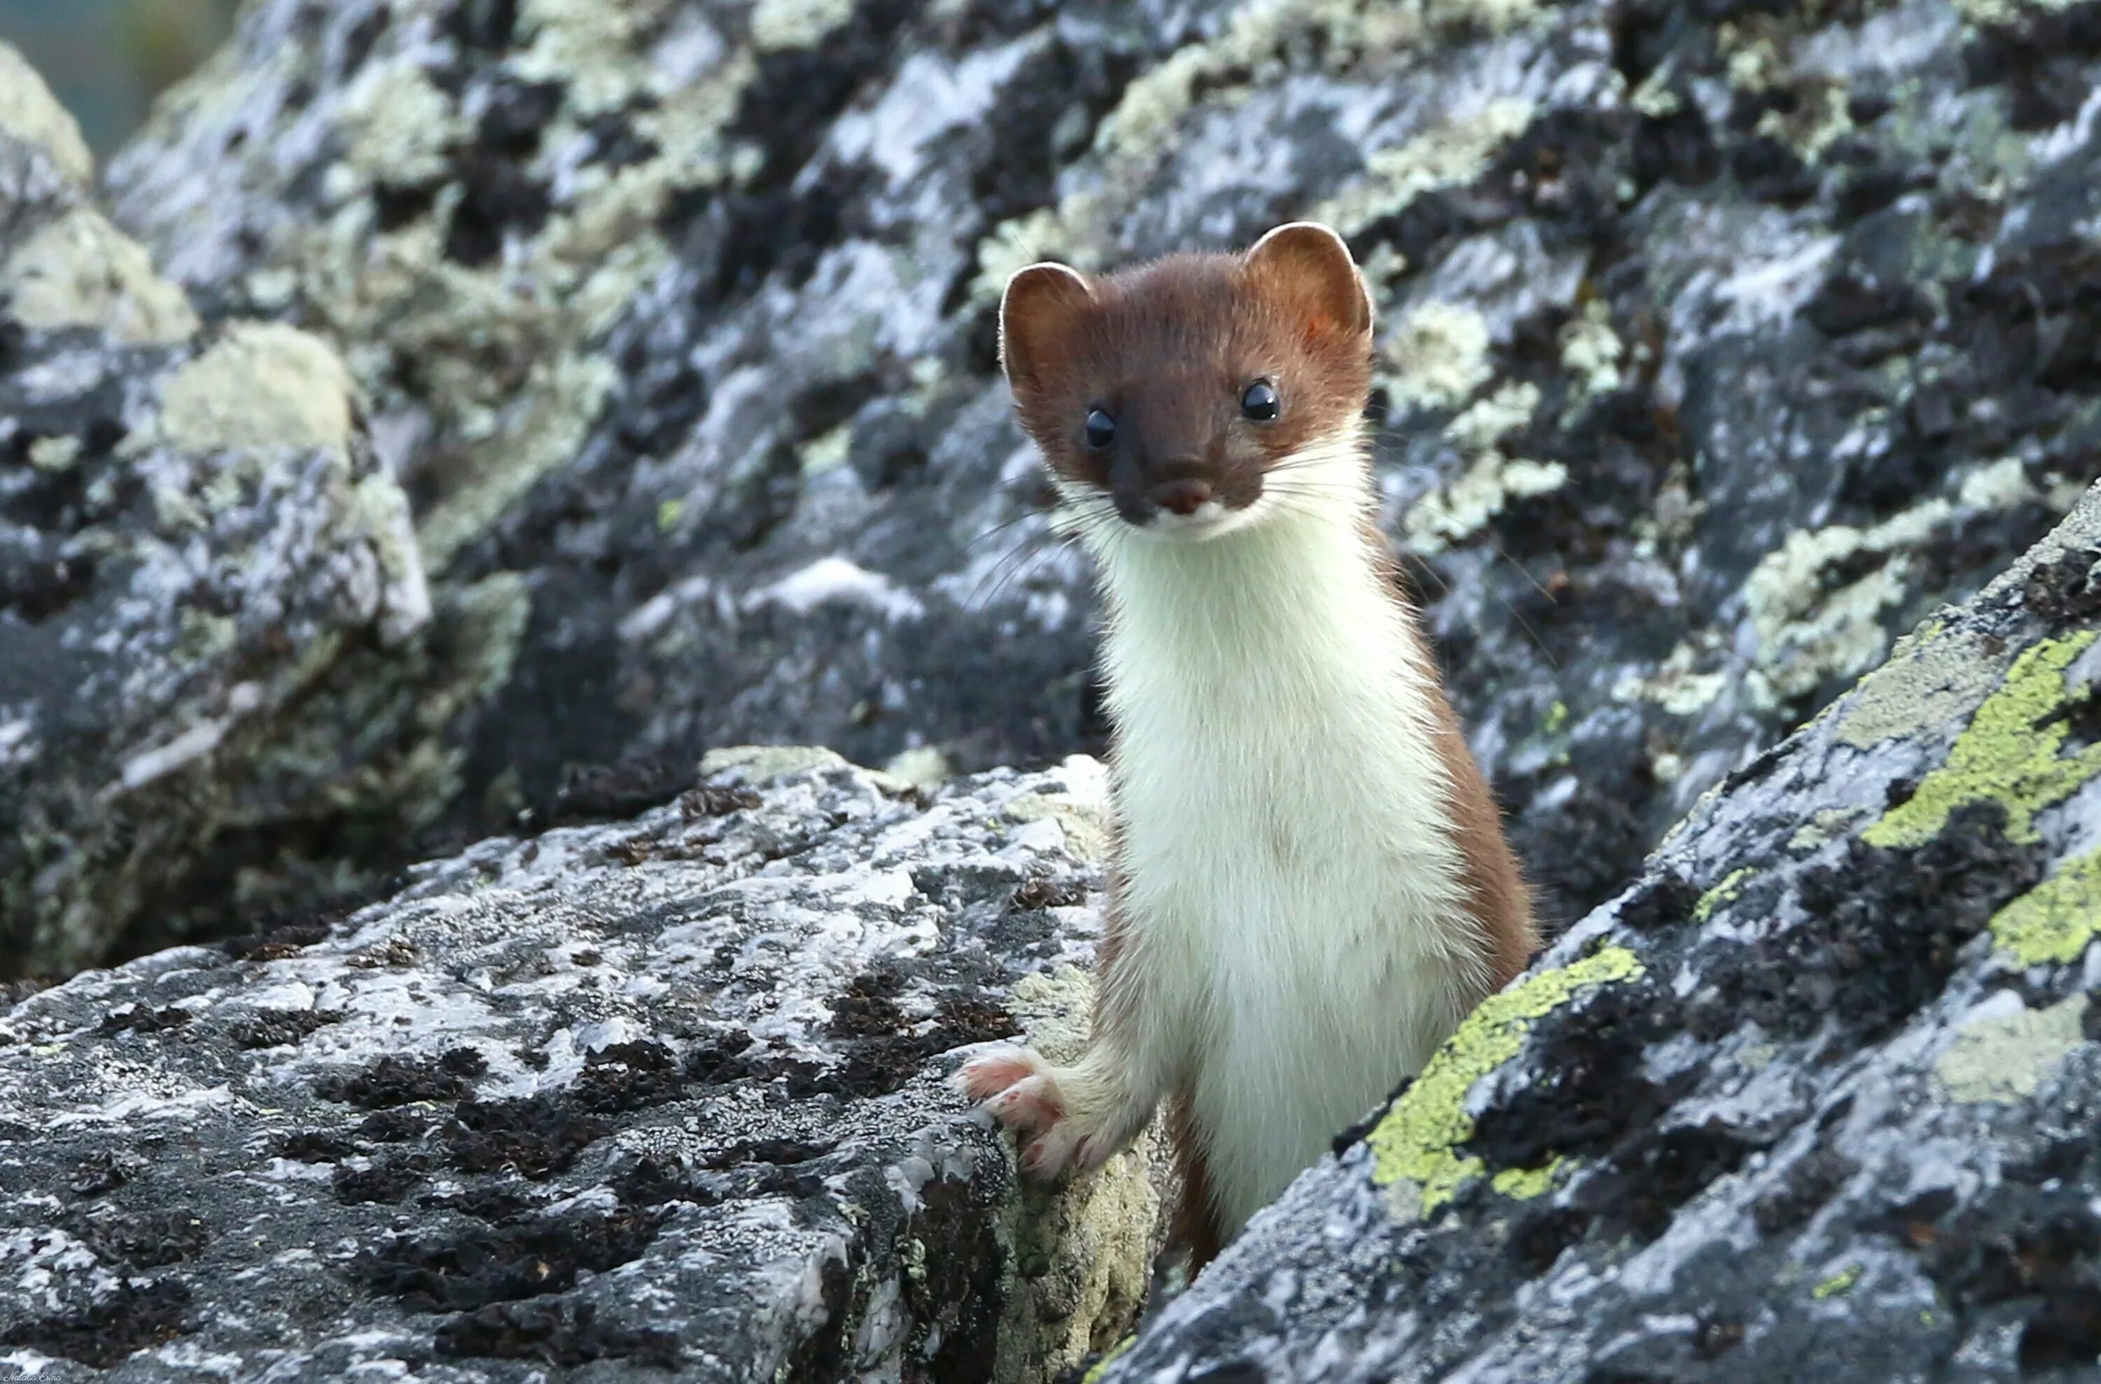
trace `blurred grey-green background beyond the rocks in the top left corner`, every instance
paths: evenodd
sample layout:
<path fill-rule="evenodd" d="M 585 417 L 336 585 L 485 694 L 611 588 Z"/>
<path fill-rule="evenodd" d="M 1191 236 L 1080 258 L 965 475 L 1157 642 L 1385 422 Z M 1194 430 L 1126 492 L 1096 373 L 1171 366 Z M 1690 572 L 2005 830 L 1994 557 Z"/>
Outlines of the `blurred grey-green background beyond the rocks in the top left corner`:
<path fill-rule="evenodd" d="M 105 158 L 233 27 L 240 0 L 0 0 L 21 48 Z"/>

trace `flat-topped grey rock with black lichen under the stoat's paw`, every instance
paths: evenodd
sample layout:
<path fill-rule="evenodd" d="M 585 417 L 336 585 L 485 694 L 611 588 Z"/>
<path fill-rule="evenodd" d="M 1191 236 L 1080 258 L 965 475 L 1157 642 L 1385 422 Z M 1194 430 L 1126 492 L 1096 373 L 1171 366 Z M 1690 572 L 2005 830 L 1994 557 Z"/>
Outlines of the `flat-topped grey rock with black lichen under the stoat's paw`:
<path fill-rule="evenodd" d="M 1101 813 L 1090 760 L 927 800 L 719 756 L 334 928 L 29 998 L 0 1376 L 1050 1378 L 1135 1317 L 1145 1153 L 1019 1189 L 945 1077 L 1084 1025 Z"/>

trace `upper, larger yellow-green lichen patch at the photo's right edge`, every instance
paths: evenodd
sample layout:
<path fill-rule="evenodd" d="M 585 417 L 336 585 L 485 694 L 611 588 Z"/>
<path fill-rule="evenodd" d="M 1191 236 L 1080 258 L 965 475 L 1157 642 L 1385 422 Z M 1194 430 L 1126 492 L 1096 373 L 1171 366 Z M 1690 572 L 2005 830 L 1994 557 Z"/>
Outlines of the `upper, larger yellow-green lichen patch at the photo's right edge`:
<path fill-rule="evenodd" d="M 1870 846 L 1918 846 L 1971 802 L 2006 809 L 2006 836 L 2036 840 L 2036 813 L 2069 798 L 2101 773 L 2101 746 L 2059 754 L 2069 727 L 2051 720 L 2072 697 L 2065 668 L 2095 643 L 2095 630 L 2048 638 L 2021 653 L 2006 683 L 1983 699 L 1971 725 L 1948 752 L 1948 762 L 1920 781 L 1901 806 L 1861 832 Z"/>

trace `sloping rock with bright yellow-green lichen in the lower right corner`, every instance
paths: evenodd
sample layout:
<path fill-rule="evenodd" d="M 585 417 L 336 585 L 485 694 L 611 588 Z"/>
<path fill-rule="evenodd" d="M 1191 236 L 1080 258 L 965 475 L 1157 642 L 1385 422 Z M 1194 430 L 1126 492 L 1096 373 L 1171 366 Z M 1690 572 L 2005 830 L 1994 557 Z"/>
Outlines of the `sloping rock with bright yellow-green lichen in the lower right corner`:
<path fill-rule="evenodd" d="M 2101 1361 L 2101 487 L 1738 771 L 1103 1380 Z"/>

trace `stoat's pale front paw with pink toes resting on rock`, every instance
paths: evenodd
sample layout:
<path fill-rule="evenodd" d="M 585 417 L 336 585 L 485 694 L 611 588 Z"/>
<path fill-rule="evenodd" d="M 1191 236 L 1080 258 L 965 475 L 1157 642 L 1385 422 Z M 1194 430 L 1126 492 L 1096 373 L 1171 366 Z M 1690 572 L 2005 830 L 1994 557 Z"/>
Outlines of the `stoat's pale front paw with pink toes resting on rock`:
<path fill-rule="evenodd" d="M 962 1094 L 1025 1140 L 1021 1170 L 1055 1180 L 1101 1168 L 1153 1113 L 1099 1048 L 1053 1067 L 1029 1048 L 994 1048 L 956 1073 Z"/>

